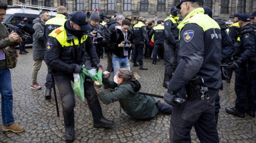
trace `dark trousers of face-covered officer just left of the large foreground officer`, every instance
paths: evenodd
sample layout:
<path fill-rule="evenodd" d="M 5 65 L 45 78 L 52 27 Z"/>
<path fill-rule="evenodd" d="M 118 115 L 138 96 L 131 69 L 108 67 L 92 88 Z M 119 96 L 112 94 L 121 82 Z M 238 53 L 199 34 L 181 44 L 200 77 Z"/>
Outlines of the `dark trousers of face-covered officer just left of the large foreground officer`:
<path fill-rule="evenodd" d="M 166 41 L 164 41 L 163 45 L 165 47 L 166 56 L 165 74 L 172 76 L 175 47 L 171 44 L 167 44 Z"/>

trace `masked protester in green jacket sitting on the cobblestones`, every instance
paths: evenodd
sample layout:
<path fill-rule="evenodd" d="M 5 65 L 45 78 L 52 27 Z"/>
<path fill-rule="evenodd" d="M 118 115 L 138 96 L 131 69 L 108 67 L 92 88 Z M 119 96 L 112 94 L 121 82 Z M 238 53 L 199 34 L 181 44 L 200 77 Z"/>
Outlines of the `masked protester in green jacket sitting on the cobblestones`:
<path fill-rule="evenodd" d="M 104 86 L 116 88 L 115 91 L 108 94 L 103 90 L 102 83 L 94 82 L 97 96 L 104 104 L 119 101 L 125 113 L 140 120 L 150 119 L 156 116 L 157 113 L 172 114 L 172 106 L 160 103 L 154 97 L 138 93 L 141 85 L 136 73 L 120 68 L 117 75 L 114 76 L 114 80 L 109 80 L 108 71 L 103 74 L 106 76 L 102 79 Z"/>

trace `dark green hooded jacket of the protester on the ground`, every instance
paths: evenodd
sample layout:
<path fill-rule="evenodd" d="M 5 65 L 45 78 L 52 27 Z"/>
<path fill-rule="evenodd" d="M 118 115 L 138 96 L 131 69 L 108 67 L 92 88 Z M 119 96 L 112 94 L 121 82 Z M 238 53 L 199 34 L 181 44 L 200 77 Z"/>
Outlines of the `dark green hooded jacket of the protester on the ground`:
<path fill-rule="evenodd" d="M 104 78 L 102 82 L 106 87 L 117 87 L 116 91 L 109 94 L 103 89 L 97 94 L 104 104 L 119 101 L 124 112 L 135 119 L 150 119 L 157 115 L 158 109 L 155 105 L 157 101 L 154 97 L 138 93 L 141 89 L 139 81 L 131 78 L 131 80 L 117 85 L 113 80 Z"/>

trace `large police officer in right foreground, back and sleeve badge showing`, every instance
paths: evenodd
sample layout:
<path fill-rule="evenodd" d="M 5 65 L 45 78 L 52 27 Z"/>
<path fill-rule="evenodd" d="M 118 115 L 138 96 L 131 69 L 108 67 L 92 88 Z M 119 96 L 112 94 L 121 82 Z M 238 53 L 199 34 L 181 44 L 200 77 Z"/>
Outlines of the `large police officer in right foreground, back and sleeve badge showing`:
<path fill-rule="evenodd" d="M 176 6 L 184 17 L 178 25 L 179 63 L 164 95 L 166 103 L 174 106 L 170 141 L 175 143 L 191 142 L 193 126 L 200 142 L 219 143 L 214 103 L 222 85 L 221 30 L 218 23 L 204 15 L 203 3 L 204 0 L 181 0 Z M 179 91 L 178 97 L 187 99 L 187 103 L 174 101 Z"/>

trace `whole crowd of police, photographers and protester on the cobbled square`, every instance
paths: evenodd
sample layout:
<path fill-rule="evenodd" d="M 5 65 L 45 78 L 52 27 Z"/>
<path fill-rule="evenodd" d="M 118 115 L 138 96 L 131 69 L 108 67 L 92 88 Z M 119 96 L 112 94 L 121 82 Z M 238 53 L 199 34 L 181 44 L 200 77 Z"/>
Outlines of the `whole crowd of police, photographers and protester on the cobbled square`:
<path fill-rule="evenodd" d="M 221 19 L 213 19 L 210 7 L 204 0 L 181 0 L 170 8 L 171 14 L 164 21 L 139 17 L 132 24 L 130 15 L 121 14 L 106 20 L 97 9 L 90 17 L 81 11 L 71 13 L 59 6 L 55 18 L 42 11 L 33 21 L 33 70 L 31 89 L 42 87 L 37 82 L 37 73 L 42 61 L 48 66 L 45 98 L 51 98 L 52 80 L 59 89 L 63 107 L 65 139 L 75 139 L 75 94 L 71 86 L 73 74 L 82 73 L 83 68 L 102 69 L 100 58 L 106 53 L 108 65 L 103 72 L 102 83 L 86 76 L 84 96 L 93 116 L 94 127 L 109 128 L 114 121 L 102 115 L 99 99 L 104 104 L 115 101 L 135 119 L 150 119 L 157 113 L 171 114 L 170 142 L 191 142 L 190 132 L 195 128 L 200 142 L 219 142 L 217 124 L 219 90 L 223 80 L 230 82 L 236 73 L 234 107 L 226 112 L 238 117 L 245 113 L 255 117 L 256 111 L 256 11 L 251 15 L 234 13 L 229 27 Z M 0 1 L 0 22 L 5 18 L 7 5 Z M 178 12 L 184 18 L 178 18 Z M 251 22 L 253 24 L 251 24 Z M 22 16 L 26 24 L 26 16 Z M 229 32 L 227 29 L 229 28 Z M 9 34 L 0 23 L 0 51 L 11 45 L 20 45 L 20 54 L 28 53 L 20 36 Z M 24 127 L 14 123 L 12 115 L 12 88 L 10 70 L 5 67 L 5 54 L 0 57 L 1 113 L 3 131 L 23 132 Z M 151 68 L 160 58 L 164 59 L 163 86 L 167 88 L 163 104 L 154 97 L 139 93 L 141 85 L 138 74 L 130 71 L 130 62 L 139 70 L 147 70 L 143 58 L 152 59 Z M 110 73 L 113 68 L 113 80 Z M 52 75 L 54 79 L 52 79 Z M 7 84 L 6 84 L 7 83 Z M 175 99 L 187 102 L 179 103 Z M 200 134 L 198 134 L 200 133 Z"/>

